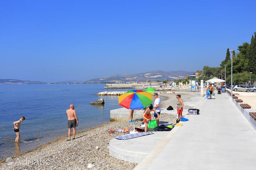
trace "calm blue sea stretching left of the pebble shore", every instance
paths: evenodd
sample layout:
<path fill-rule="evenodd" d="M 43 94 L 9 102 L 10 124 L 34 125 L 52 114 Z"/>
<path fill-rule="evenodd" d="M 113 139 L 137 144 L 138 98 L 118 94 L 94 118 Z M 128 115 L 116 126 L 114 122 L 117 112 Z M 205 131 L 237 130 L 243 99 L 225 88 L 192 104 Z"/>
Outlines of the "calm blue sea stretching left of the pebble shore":
<path fill-rule="evenodd" d="M 110 121 L 110 110 L 121 108 L 117 96 L 96 96 L 104 84 L 76 85 L 0 85 L 0 159 L 23 153 L 67 135 L 66 109 L 75 105 L 79 119 L 77 131 L 90 129 Z M 91 105 L 103 98 L 105 104 Z M 20 143 L 16 144 L 13 122 L 21 123 Z"/>

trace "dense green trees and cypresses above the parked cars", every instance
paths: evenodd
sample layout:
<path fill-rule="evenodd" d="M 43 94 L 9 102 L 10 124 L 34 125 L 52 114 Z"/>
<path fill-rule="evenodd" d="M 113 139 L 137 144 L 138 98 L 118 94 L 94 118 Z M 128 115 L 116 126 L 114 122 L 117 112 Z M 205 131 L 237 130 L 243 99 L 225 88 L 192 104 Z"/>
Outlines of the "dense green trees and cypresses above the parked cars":
<path fill-rule="evenodd" d="M 242 43 L 237 49 L 239 52 L 235 56 L 233 51 L 233 84 L 249 84 L 250 72 L 251 81 L 256 81 L 256 32 L 252 35 L 251 44 Z M 220 67 L 204 66 L 202 72 L 198 75 L 198 80 L 208 80 L 213 77 L 221 78 L 221 73 L 225 77 L 226 66 L 226 83 L 231 83 L 231 59 L 229 49 L 226 51 L 225 60 L 220 63 Z"/>

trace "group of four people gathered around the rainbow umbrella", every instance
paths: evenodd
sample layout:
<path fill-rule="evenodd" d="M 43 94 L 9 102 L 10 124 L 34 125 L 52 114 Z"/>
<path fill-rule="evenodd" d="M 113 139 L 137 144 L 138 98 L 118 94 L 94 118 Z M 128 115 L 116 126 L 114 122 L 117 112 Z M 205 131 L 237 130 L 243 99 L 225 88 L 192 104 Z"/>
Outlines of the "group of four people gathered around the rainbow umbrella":
<path fill-rule="evenodd" d="M 151 104 L 149 107 L 147 107 L 142 115 L 143 121 L 145 123 L 145 132 L 148 131 L 148 124 L 151 121 L 150 112 L 154 112 L 154 118 L 156 119 L 156 124 L 157 124 L 157 126 L 159 126 L 159 118 L 160 118 L 160 113 L 161 113 L 161 100 L 158 97 L 157 92 L 155 92 L 153 94 L 153 97 L 155 98 L 154 105 Z M 176 98 L 178 100 L 177 101 L 177 119 L 180 120 L 180 118 L 182 117 L 184 103 L 181 99 L 181 95 L 177 95 Z M 130 109 L 129 122 L 134 121 L 134 120 L 132 120 L 133 112 L 134 112 L 134 110 Z"/>

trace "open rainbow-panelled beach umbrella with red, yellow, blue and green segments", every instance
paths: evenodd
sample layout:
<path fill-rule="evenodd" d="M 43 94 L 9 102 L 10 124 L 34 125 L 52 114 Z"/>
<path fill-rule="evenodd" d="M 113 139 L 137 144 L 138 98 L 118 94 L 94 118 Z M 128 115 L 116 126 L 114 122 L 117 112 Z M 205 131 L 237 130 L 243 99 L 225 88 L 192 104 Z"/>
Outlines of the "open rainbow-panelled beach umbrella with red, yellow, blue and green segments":
<path fill-rule="evenodd" d="M 152 94 L 142 90 L 130 90 L 118 97 L 119 105 L 127 109 L 143 109 L 152 101 Z"/>

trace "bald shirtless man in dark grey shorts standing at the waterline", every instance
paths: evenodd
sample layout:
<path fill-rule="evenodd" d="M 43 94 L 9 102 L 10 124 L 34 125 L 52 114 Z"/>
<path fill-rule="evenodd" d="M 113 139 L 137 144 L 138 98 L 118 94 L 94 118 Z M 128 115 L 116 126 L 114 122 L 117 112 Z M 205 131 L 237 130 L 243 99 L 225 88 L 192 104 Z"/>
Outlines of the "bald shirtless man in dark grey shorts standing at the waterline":
<path fill-rule="evenodd" d="M 75 139 L 75 127 L 78 126 L 78 117 L 76 116 L 75 106 L 70 104 L 69 109 L 66 110 L 66 114 L 68 116 L 68 140 L 71 138 L 71 128 L 73 128 L 73 139 Z"/>

